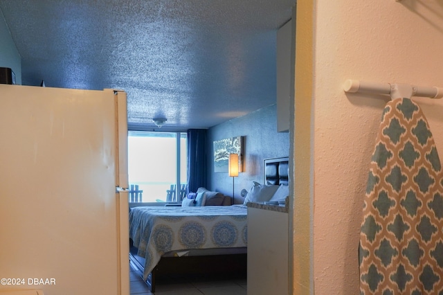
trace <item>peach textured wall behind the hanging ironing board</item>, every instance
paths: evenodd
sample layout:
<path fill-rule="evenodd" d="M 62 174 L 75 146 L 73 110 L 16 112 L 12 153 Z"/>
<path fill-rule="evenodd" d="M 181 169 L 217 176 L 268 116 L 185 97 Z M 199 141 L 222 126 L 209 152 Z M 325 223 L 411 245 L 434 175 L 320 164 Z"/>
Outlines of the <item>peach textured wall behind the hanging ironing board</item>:
<path fill-rule="evenodd" d="M 313 82 L 303 86 L 296 75 L 295 105 L 300 99 L 311 100 L 313 121 L 310 126 L 307 120 L 297 125 L 296 119 L 293 131 L 295 134 L 299 128 L 311 131 L 311 135 L 306 135 L 312 142 L 311 168 L 301 166 L 302 171 L 294 176 L 297 186 L 303 179 L 300 175 L 313 171 L 309 188 L 313 208 L 309 208 L 310 224 L 305 217 L 305 222 L 296 220 L 297 210 L 293 223 L 295 233 L 303 230 L 300 226 L 311 226 L 310 251 L 307 253 L 306 247 L 302 247 L 302 254 L 296 254 L 294 245 L 294 265 L 300 259 L 306 261 L 309 255 L 310 264 L 305 262 L 302 267 L 311 270 L 314 284 L 309 290 L 300 289 L 300 284 L 305 285 L 305 276 L 294 271 L 293 290 L 294 294 L 358 294 L 357 249 L 363 195 L 381 111 L 388 98 L 346 94 L 343 82 L 355 79 L 443 87 L 443 2 L 317 0 L 313 5 L 311 2 L 298 0 L 297 13 L 314 19 L 310 28 L 314 36 Z M 297 32 L 309 35 L 304 30 L 309 30 L 309 25 L 298 27 Z M 296 69 L 299 66 L 309 70 L 309 63 L 296 60 Z M 306 87 L 306 92 L 311 86 L 311 98 L 297 96 L 302 92 L 298 87 Z M 422 106 L 443 159 L 443 100 L 413 99 Z M 297 116 L 297 109 L 295 113 Z M 297 136 L 294 138 L 297 146 Z M 305 145 L 304 141 L 299 142 Z M 296 158 L 295 168 L 297 161 Z M 297 199 L 307 196 L 297 195 L 297 188 L 295 193 L 296 206 Z M 304 244 L 308 242 L 306 239 Z"/>

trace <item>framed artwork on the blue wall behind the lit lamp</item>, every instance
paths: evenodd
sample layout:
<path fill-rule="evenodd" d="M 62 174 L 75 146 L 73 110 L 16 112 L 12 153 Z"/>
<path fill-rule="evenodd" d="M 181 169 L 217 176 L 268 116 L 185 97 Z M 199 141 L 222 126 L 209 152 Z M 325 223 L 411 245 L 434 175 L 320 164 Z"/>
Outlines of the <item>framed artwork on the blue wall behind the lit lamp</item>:
<path fill-rule="evenodd" d="M 239 172 L 243 171 L 244 136 L 214 141 L 214 172 L 228 172 L 229 154 L 238 154 Z"/>

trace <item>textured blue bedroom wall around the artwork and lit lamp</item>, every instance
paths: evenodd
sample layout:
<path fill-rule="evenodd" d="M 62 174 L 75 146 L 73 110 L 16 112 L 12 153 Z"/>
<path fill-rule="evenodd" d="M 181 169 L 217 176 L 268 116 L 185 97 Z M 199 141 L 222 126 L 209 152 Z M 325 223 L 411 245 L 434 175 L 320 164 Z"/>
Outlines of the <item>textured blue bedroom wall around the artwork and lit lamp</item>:
<path fill-rule="evenodd" d="M 277 106 L 264 107 L 251 114 L 234 118 L 208 130 L 208 189 L 233 194 L 233 178 L 228 172 L 214 172 L 214 141 L 244 136 L 244 172 L 235 177 L 234 195 L 242 202 L 240 191 L 249 190 L 252 181 L 263 183 L 263 161 L 289 156 L 289 133 L 277 132 Z"/>

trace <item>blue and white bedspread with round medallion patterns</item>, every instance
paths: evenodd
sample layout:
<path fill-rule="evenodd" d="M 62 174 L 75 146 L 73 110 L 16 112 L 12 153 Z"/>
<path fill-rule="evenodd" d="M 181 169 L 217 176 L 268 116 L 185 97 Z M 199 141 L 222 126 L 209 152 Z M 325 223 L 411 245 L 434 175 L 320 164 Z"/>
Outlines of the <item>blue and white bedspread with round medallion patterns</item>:
<path fill-rule="evenodd" d="M 169 251 L 246 247 L 244 205 L 134 207 L 129 212 L 129 238 L 145 258 L 145 280 Z"/>

